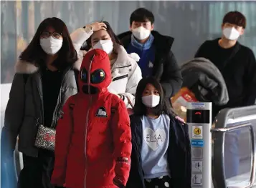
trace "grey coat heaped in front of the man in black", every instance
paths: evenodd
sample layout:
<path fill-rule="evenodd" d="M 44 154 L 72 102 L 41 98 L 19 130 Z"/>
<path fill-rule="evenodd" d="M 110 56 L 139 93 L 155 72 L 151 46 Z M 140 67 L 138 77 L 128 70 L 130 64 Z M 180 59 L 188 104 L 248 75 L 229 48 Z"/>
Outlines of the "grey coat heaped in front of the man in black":
<path fill-rule="evenodd" d="M 229 102 L 229 94 L 224 78 L 211 61 L 195 58 L 181 66 L 182 86 L 186 86 L 201 102 L 224 105 Z"/>

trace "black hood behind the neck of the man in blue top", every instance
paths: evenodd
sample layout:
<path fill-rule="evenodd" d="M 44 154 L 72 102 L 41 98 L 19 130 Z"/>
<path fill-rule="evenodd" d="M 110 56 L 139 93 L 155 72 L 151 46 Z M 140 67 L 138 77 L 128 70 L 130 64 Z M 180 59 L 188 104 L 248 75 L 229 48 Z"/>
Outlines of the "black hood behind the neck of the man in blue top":
<path fill-rule="evenodd" d="M 162 51 L 166 53 L 167 51 L 171 50 L 171 46 L 174 43 L 174 38 L 171 36 L 165 36 L 158 33 L 158 31 L 151 31 L 151 34 L 154 37 L 153 44 L 156 46 L 158 51 Z M 131 31 L 126 31 L 121 34 L 118 34 L 118 38 L 123 42 L 125 49 L 127 48 L 128 44 L 131 43 Z"/>

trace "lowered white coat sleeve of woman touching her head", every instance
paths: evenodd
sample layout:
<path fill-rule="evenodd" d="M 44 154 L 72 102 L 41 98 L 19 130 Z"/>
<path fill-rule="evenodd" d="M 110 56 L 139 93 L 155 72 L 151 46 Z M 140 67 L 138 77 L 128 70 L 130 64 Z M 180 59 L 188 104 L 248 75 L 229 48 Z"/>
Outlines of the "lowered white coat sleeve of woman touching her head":
<path fill-rule="evenodd" d="M 133 59 L 131 60 L 134 61 Z M 138 66 L 137 62 L 134 61 L 133 70 L 132 70 L 131 76 L 129 76 L 128 78 L 125 93 L 121 93 L 125 97 L 124 102 L 126 107 L 129 107 L 128 99 L 134 105 L 136 89 L 138 86 L 138 82 L 141 81 L 141 79 L 142 79 L 141 68 Z"/>

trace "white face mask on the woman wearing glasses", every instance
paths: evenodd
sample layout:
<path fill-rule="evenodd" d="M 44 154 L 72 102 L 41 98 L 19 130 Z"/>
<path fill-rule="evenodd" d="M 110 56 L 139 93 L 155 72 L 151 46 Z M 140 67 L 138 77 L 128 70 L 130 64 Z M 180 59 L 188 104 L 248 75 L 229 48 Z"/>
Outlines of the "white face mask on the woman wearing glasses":
<path fill-rule="evenodd" d="M 62 48 L 62 39 L 54 39 L 49 36 L 47 39 L 40 39 L 40 46 L 49 55 L 56 54 Z"/>

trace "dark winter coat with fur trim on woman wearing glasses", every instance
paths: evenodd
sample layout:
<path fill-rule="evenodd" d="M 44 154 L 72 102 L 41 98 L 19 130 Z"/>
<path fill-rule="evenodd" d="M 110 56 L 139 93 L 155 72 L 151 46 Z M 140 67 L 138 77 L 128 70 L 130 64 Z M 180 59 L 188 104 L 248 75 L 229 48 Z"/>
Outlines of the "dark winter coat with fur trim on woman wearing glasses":
<path fill-rule="evenodd" d="M 63 73 L 60 94 L 52 119 L 53 127 L 57 124 L 63 104 L 70 96 L 77 93 L 75 71 L 79 71 L 79 68 L 80 61 L 76 61 Z M 1 134 L 1 151 L 14 151 L 16 138 L 19 135 L 19 152 L 29 157 L 37 157 L 38 148 L 34 147 L 37 122 L 41 124 L 44 122 L 42 77 L 34 62 L 18 61 L 15 69 L 16 74 L 11 85 Z M 3 143 L 6 142 L 11 144 L 11 149 L 4 147 L 6 144 Z"/>

